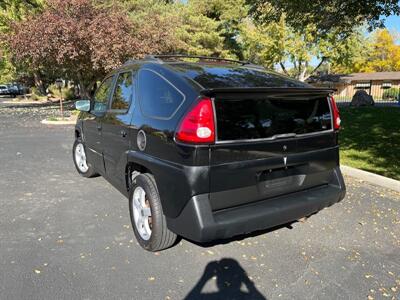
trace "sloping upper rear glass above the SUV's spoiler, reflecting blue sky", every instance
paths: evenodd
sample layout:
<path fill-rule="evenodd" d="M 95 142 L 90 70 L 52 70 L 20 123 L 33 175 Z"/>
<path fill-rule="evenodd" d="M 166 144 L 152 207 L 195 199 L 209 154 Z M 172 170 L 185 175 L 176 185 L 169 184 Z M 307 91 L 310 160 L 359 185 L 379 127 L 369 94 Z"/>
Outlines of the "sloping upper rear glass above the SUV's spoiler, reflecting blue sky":
<path fill-rule="evenodd" d="M 303 82 L 263 69 L 190 63 L 175 64 L 172 67 L 205 88 L 310 87 Z"/>

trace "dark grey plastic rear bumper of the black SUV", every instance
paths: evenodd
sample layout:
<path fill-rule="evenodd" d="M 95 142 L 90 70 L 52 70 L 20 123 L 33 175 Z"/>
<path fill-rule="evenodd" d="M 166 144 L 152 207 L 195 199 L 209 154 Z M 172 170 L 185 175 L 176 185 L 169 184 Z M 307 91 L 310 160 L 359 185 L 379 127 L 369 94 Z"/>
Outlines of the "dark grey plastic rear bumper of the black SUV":
<path fill-rule="evenodd" d="M 206 242 L 271 228 L 311 215 L 342 200 L 346 193 L 339 167 L 327 185 L 212 211 L 209 194 L 190 199 L 181 214 L 167 218 L 168 227 L 190 240 Z"/>

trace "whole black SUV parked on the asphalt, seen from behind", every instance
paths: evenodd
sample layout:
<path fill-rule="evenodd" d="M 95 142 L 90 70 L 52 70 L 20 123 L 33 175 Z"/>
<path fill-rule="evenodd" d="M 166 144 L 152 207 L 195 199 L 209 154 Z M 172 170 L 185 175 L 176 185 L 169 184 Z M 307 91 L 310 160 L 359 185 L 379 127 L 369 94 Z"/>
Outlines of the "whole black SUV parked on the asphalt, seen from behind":
<path fill-rule="evenodd" d="M 76 103 L 76 168 L 129 198 L 143 248 L 266 229 L 344 198 L 331 90 L 199 59 L 129 61 Z"/>

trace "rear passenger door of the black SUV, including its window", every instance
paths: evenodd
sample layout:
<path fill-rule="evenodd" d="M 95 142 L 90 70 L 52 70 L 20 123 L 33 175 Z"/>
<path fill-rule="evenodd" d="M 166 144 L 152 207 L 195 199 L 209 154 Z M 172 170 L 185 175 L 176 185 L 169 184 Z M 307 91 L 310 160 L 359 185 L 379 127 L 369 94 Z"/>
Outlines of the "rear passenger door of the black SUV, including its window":
<path fill-rule="evenodd" d="M 130 147 L 129 124 L 134 102 L 134 74 L 118 74 L 110 107 L 102 118 L 102 146 L 106 173 L 111 180 L 124 182 L 126 152 Z"/>

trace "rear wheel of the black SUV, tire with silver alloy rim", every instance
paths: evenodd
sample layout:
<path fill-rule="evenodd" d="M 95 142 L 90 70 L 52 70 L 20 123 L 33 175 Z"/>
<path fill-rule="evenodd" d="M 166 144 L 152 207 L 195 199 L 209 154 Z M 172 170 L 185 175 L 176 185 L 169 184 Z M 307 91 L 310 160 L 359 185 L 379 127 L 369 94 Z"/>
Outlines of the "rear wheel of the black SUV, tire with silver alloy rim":
<path fill-rule="evenodd" d="M 155 252 L 175 243 L 177 236 L 167 228 L 153 175 L 144 173 L 135 178 L 129 194 L 129 212 L 133 232 L 143 249 Z"/>

